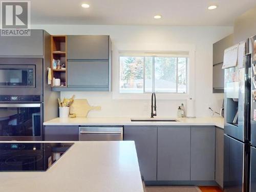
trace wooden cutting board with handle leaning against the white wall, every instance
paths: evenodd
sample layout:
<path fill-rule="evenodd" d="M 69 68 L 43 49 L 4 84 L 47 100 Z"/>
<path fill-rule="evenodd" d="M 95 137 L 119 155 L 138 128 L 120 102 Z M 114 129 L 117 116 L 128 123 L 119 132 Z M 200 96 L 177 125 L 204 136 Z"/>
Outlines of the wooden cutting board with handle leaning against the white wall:
<path fill-rule="evenodd" d="M 76 117 L 87 117 L 91 110 L 101 110 L 101 107 L 90 106 L 87 99 L 74 99 L 70 106 L 70 114 L 76 114 Z"/>

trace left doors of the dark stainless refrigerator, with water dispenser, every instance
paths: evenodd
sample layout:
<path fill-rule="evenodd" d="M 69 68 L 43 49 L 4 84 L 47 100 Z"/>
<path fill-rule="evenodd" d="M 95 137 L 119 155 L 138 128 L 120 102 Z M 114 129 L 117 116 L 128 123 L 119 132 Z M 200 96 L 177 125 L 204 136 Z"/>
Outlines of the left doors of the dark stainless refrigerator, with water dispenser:
<path fill-rule="evenodd" d="M 244 60 L 243 65 L 225 69 L 223 183 L 225 192 L 249 191 L 251 54 L 249 39 L 244 42 L 244 56 L 239 59 Z"/>

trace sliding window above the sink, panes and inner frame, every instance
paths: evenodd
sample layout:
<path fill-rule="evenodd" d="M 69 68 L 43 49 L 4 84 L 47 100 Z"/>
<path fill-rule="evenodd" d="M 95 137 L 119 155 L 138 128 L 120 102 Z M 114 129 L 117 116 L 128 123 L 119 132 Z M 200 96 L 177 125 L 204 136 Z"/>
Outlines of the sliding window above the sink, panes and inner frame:
<path fill-rule="evenodd" d="M 187 93 L 188 53 L 119 53 L 120 93 Z"/>

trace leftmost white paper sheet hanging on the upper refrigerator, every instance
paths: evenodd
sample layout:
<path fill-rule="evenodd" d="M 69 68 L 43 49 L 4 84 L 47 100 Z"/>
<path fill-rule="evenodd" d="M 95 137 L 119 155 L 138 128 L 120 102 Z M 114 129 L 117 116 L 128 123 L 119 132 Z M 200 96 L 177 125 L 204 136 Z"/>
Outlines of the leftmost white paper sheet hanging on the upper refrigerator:
<path fill-rule="evenodd" d="M 236 67 L 238 63 L 239 44 L 225 49 L 222 69 Z"/>

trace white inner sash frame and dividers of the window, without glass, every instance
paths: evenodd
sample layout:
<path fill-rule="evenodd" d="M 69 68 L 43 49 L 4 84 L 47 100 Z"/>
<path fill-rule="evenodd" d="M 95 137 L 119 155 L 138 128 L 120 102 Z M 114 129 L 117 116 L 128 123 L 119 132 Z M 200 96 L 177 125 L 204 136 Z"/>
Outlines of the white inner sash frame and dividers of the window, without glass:
<path fill-rule="evenodd" d="M 179 53 L 182 53 L 182 52 L 179 52 Z M 188 84 L 189 84 L 189 81 L 188 81 L 188 63 L 189 63 L 189 53 L 188 52 L 184 52 L 185 54 L 175 54 L 175 52 L 170 52 L 170 53 L 166 53 L 166 52 L 158 52 L 157 53 L 154 53 L 154 54 L 151 54 L 151 52 L 144 52 L 144 53 L 136 53 L 136 52 L 119 52 L 119 55 L 118 55 L 118 66 L 119 66 L 119 82 L 118 82 L 118 85 L 119 85 L 119 89 L 118 89 L 118 92 L 119 94 L 152 94 L 153 92 L 157 93 L 157 94 L 182 94 L 182 95 L 186 95 L 188 94 Z M 121 79 L 120 79 L 120 57 L 143 57 L 143 92 L 142 93 L 125 93 L 125 92 L 120 92 L 120 83 L 121 83 Z M 152 60 L 152 92 L 148 92 L 148 91 L 145 91 L 145 57 L 152 57 L 153 60 Z M 177 68 L 176 68 L 176 92 L 158 92 L 158 91 L 155 91 L 155 58 L 156 57 L 169 57 L 169 58 L 176 58 L 177 61 L 176 61 L 176 65 L 177 65 Z M 180 93 L 178 92 L 178 73 L 179 73 L 179 65 L 178 65 L 178 58 L 186 58 L 186 92 L 184 93 Z"/>

